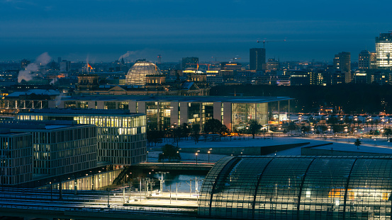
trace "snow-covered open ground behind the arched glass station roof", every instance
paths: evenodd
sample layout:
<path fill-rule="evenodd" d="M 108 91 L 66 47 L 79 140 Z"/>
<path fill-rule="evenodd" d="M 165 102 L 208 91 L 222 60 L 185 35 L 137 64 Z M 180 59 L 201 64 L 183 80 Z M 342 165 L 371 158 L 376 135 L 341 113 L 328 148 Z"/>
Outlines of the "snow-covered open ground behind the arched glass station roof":
<path fill-rule="evenodd" d="M 181 140 L 179 141 L 179 148 L 208 148 L 214 149 L 218 147 L 247 147 L 247 146 L 274 146 L 274 145 L 281 145 L 281 144 L 297 144 L 297 143 L 304 143 L 310 142 L 305 146 L 313 146 L 318 144 L 326 144 L 332 142 L 332 145 L 326 146 L 318 146 L 318 149 L 328 149 L 330 150 L 333 148 L 334 151 L 355 151 L 355 152 L 373 152 L 373 153 L 381 153 L 381 154 L 391 154 L 392 156 L 392 143 L 388 143 L 385 137 L 379 138 L 361 138 L 362 144 L 357 149 L 357 146 L 354 146 L 354 141 L 357 137 L 266 137 L 264 136 L 256 137 L 256 139 L 252 139 L 252 137 L 241 137 L 240 139 L 225 137 L 222 138 L 220 141 L 201 141 L 198 144 L 195 144 L 194 141 L 191 139 L 189 140 Z M 150 162 L 156 162 L 158 160 L 158 154 L 161 153 L 160 151 L 161 146 L 164 144 L 173 144 L 174 146 L 177 143 L 173 143 L 172 139 L 164 140 L 164 143 L 157 144 L 157 147 L 148 147 L 149 150 L 148 158 Z M 389 146 L 390 145 L 390 146 Z M 271 156 L 299 156 L 301 155 L 301 148 L 304 146 L 298 146 L 293 149 L 288 149 L 285 151 L 279 151 L 274 154 L 270 154 Z M 196 152 L 195 152 L 196 153 Z M 210 154 L 210 161 L 215 162 L 218 161 L 220 158 L 225 157 L 225 155 L 217 155 L 213 154 L 213 150 Z M 206 163 L 208 162 L 208 154 L 198 154 L 197 160 L 199 163 Z M 192 161 L 196 162 L 196 154 L 188 154 L 188 153 L 181 153 L 181 161 Z"/>

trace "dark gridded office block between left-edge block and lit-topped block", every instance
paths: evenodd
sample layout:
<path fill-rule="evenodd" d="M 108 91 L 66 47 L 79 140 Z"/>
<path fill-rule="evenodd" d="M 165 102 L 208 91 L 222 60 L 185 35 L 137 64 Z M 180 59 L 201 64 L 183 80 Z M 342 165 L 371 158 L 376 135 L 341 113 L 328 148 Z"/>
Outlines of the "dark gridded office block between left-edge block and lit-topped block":
<path fill-rule="evenodd" d="M 32 134 L 35 175 L 64 175 L 96 167 L 95 125 L 23 120 L 0 123 L 0 126 L 12 132 Z"/>

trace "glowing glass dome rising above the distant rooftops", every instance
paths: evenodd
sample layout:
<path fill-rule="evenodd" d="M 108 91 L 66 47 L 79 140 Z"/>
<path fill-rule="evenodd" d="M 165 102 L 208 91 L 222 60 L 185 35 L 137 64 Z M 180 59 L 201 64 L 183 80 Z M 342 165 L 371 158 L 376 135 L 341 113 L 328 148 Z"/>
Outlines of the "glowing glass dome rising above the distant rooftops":
<path fill-rule="evenodd" d="M 157 65 L 145 60 L 136 62 L 130 67 L 127 76 L 125 76 L 125 83 L 127 85 L 145 86 L 146 75 L 160 75 L 162 71 Z"/>

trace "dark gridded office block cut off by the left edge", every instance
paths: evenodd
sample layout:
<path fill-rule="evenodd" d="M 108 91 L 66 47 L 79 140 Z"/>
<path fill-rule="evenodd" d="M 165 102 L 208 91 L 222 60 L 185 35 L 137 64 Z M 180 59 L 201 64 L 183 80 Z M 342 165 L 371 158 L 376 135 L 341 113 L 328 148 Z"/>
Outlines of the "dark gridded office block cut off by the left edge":
<path fill-rule="evenodd" d="M 0 187 L 33 179 L 33 137 L 0 126 Z"/>

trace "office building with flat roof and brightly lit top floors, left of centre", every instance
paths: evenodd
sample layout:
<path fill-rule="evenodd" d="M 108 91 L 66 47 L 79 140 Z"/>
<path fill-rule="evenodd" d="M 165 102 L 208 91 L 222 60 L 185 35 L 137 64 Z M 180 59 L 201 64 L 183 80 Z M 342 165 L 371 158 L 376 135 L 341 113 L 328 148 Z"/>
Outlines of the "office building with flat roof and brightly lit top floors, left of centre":
<path fill-rule="evenodd" d="M 98 127 L 98 162 L 115 165 L 131 165 L 146 160 L 146 116 L 129 110 L 105 110 L 128 108 L 128 102 L 98 102 L 94 99 L 78 103 L 79 107 L 100 109 L 71 109 L 76 101 L 68 101 L 69 109 L 41 109 L 18 114 L 18 120 L 67 120 L 82 125 Z M 92 102 L 90 105 L 89 102 Z M 113 106 L 112 106 L 113 105 Z M 126 107 L 125 107 L 126 106 Z"/>

